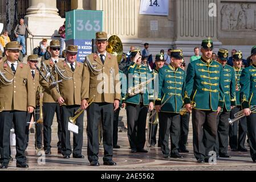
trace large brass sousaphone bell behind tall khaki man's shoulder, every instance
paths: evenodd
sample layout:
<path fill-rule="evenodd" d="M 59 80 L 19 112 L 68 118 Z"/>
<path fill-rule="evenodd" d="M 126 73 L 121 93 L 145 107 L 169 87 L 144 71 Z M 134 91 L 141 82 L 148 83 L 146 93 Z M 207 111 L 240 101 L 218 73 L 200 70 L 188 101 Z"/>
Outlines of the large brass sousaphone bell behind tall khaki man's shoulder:
<path fill-rule="evenodd" d="M 108 38 L 107 52 L 117 57 L 117 63 L 119 64 L 123 55 L 123 44 L 118 36 L 112 35 Z"/>

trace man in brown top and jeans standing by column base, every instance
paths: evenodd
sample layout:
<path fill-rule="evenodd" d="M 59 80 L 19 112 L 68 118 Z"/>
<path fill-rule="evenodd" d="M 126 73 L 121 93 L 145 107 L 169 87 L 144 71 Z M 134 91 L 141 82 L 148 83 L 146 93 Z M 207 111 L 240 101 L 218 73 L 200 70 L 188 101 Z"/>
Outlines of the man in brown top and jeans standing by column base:
<path fill-rule="evenodd" d="M 14 34 L 17 38 L 18 43 L 21 44 L 21 46 L 22 46 L 21 52 L 23 54 L 23 57 L 26 55 L 26 44 L 25 44 L 26 31 L 30 35 L 32 35 L 31 31 L 29 30 L 27 25 L 24 23 L 24 19 L 21 18 L 21 19 L 19 19 L 19 24 L 17 24 L 17 26 L 14 29 Z M 32 36 L 34 36 L 34 35 L 32 35 Z"/>

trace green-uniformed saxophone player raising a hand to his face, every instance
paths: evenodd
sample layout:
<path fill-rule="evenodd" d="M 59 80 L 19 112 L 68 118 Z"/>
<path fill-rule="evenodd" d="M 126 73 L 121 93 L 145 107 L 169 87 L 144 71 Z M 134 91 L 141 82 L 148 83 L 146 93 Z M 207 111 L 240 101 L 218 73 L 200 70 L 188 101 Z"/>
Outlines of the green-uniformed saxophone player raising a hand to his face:
<path fill-rule="evenodd" d="M 141 55 L 138 49 L 131 52 L 133 64 L 128 68 L 128 89 L 136 88 L 142 82 L 148 81 L 148 75 L 151 75 L 149 68 L 141 65 Z M 140 87 L 140 86 L 139 86 Z M 153 92 L 148 92 L 148 84 L 141 86 L 136 90 L 137 94 L 133 96 L 127 93 L 125 98 L 127 112 L 128 139 L 131 152 L 148 152 L 144 150 L 146 137 L 145 127 L 149 109 L 153 109 Z M 140 90 L 143 89 L 141 92 Z M 151 90 L 153 91 L 153 90 Z"/>

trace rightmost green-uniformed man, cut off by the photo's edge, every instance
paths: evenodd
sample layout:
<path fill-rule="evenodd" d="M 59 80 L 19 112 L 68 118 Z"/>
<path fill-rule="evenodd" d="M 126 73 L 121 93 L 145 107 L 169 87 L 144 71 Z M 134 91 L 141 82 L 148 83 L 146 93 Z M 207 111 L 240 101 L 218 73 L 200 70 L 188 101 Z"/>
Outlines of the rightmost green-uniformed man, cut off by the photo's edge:
<path fill-rule="evenodd" d="M 256 105 L 256 46 L 251 48 L 252 65 L 242 71 L 240 77 L 241 105 L 243 114 L 247 117 L 247 131 L 250 145 L 250 154 L 253 162 L 256 160 L 256 111 L 251 112 L 249 106 Z"/>

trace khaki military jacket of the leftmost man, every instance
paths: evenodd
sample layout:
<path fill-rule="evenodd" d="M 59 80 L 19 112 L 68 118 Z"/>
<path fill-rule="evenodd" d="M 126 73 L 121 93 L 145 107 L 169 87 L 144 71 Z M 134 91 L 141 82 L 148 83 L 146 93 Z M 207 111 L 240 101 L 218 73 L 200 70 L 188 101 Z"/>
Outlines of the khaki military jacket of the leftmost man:
<path fill-rule="evenodd" d="M 35 93 L 30 68 L 18 61 L 15 75 L 7 61 L 0 63 L 0 71 L 5 73 L 10 85 L 0 82 L 0 109 L 27 111 L 28 106 L 35 107 Z M 2 78 L 1 78 L 2 80 Z"/>

